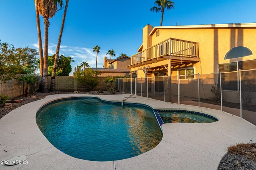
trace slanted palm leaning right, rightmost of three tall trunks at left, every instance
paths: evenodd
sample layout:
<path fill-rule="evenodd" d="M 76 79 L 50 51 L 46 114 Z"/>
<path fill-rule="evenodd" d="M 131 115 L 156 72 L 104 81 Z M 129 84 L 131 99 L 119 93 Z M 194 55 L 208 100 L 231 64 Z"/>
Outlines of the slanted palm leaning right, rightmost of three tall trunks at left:
<path fill-rule="evenodd" d="M 55 54 L 55 59 L 54 59 L 54 65 L 53 65 L 53 68 L 52 68 L 52 78 L 51 78 L 51 88 L 50 88 L 50 91 L 52 91 L 52 92 L 54 91 L 54 86 L 55 86 L 56 68 L 57 68 L 58 56 L 59 56 L 59 52 L 60 52 L 60 42 L 61 42 L 61 38 L 62 38 L 65 18 L 66 18 L 67 9 L 68 9 L 68 1 L 69 0 L 66 0 L 65 10 L 64 10 L 64 13 L 63 13 L 62 23 L 61 23 L 61 27 L 60 27 L 60 35 L 59 35 L 56 54 Z"/>

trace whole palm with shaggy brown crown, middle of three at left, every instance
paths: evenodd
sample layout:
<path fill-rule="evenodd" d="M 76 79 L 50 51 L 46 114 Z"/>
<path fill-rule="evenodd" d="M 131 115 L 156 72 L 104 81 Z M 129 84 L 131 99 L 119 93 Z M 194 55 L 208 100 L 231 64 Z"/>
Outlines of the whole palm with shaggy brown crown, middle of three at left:
<path fill-rule="evenodd" d="M 48 92 L 48 27 L 50 26 L 49 18 L 52 18 L 58 9 L 62 7 L 62 0 L 35 0 L 38 13 L 44 18 L 44 71 L 42 78 L 42 92 Z"/>

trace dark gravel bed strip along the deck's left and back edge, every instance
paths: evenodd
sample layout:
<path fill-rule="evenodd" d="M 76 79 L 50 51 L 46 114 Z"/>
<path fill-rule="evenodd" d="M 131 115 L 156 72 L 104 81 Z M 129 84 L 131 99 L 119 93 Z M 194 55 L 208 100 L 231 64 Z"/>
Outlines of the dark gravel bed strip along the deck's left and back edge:
<path fill-rule="evenodd" d="M 68 93 L 74 93 L 74 92 L 48 92 L 48 93 L 40 93 L 40 92 L 36 92 L 34 94 L 34 96 L 36 96 L 36 98 L 30 98 L 30 97 L 24 97 L 24 96 L 20 96 L 17 97 L 17 99 L 23 99 L 21 103 L 13 103 L 12 104 L 12 108 L 3 108 L 2 106 L 0 106 L 0 119 L 2 117 L 4 117 L 4 115 L 6 115 L 7 113 L 9 113 L 10 111 L 16 109 L 17 107 L 20 107 L 24 104 L 28 104 L 30 102 L 34 102 L 36 100 L 40 100 L 45 98 L 45 96 L 48 95 L 53 95 L 53 94 L 68 94 Z M 108 91 L 102 91 L 102 93 L 95 91 L 95 92 L 81 92 L 81 94 L 98 94 L 98 95 L 107 95 L 107 94 L 111 94 Z M 114 94 L 125 94 L 122 92 L 115 92 Z"/>

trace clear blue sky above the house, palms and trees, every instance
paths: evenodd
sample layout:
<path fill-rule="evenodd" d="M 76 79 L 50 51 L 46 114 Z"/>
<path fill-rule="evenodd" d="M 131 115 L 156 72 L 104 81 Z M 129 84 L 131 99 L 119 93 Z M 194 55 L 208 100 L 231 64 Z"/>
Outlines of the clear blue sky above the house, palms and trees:
<path fill-rule="evenodd" d="M 246 23 L 256 21 L 255 0 L 173 0 L 173 10 L 165 11 L 163 26 L 212 23 Z M 161 13 L 150 12 L 154 0 L 70 0 L 60 54 L 72 56 L 75 63 L 87 61 L 95 67 L 95 45 L 101 47 L 98 68 L 111 48 L 131 56 L 142 43 L 146 24 L 160 25 Z M 50 19 L 49 55 L 56 51 L 64 8 Z M 0 40 L 15 47 L 37 49 L 38 35 L 34 0 L 0 0 Z M 41 19 L 42 38 L 44 24 Z M 108 57 L 110 57 L 108 55 Z"/>

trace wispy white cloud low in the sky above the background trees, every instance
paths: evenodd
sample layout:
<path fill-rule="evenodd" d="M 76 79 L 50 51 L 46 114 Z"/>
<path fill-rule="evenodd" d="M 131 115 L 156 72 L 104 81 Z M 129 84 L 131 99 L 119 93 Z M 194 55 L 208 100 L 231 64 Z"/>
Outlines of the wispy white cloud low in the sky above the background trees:
<path fill-rule="evenodd" d="M 36 49 L 39 49 L 38 43 L 33 44 Z M 49 44 L 48 45 L 48 55 L 53 55 L 56 51 L 56 44 Z M 44 50 L 44 47 L 43 47 Z M 107 51 L 100 51 L 98 53 L 98 62 L 97 62 L 97 68 L 103 68 L 103 59 L 106 56 Z M 60 55 L 64 56 L 72 56 L 74 59 L 74 63 L 71 63 L 72 65 L 72 72 L 74 71 L 74 67 L 76 65 L 80 65 L 82 61 L 87 61 L 89 65 L 92 68 L 95 68 L 96 65 L 96 53 L 93 52 L 92 49 L 87 48 L 87 47 L 72 47 L 72 46 L 67 46 L 67 45 L 60 45 Z M 70 75 L 72 75 L 72 72 Z"/>

